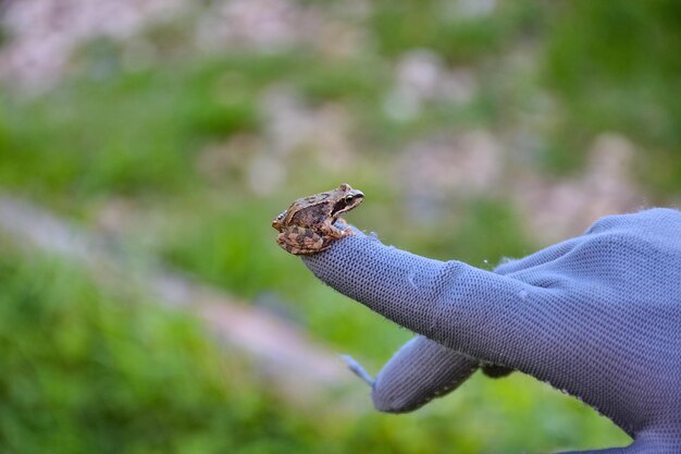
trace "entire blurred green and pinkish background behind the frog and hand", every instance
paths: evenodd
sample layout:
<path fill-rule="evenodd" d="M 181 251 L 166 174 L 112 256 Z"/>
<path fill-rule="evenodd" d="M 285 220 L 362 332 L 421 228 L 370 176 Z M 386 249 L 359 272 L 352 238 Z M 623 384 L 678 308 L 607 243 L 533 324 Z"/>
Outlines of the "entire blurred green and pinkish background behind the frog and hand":
<path fill-rule="evenodd" d="M 270 222 L 337 186 L 382 241 L 492 269 L 681 204 L 674 0 L 0 3 L 0 451 L 624 445 L 520 373 L 374 413 L 411 333 Z"/>

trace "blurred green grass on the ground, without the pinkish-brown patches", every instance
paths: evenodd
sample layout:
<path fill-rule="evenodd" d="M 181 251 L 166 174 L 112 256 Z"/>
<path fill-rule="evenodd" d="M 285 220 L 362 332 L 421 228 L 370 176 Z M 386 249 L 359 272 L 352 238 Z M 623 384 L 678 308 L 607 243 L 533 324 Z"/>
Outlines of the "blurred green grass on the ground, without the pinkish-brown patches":
<path fill-rule="evenodd" d="M 673 199 L 680 17 L 678 2 L 664 0 L 523 1 L 471 17 L 446 2 L 382 1 L 362 24 L 371 46 L 358 54 L 189 52 L 143 68 L 126 66 L 125 44 L 98 38 L 50 91 L 0 95 L 0 186 L 94 229 L 107 206 L 125 200 L 134 219 L 119 241 L 246 300 L 274 294 L 301 329 L 375 369 L 410 333 L 315 281 L 274 244 L 271 219 L 300 195 L 348 181 L 368 194 L 349 220 L 387 244 L 484 268 L 529 254 L 538 245 L 506 194 L 447 203 L 430 223 L 405 209 L 412 187 L 389 170 L 405 144 L 473 128 L 504 136 L 535 127 L 541 146 L 527 165 L 556 174 L 579 173 L 598 134 L 623 132 L 642 150 L 634 169 L 646 195 Z M 159 46 L 184 36 L 152 32 Z M 430 100 L 416 116 L 395 119 L 383 106 L 394 66 L 421 48 L 466 68 L 478 90 L 467 102 Z M 517 54 L 527 64 L 512 63 Z M 259 193 L 245 147 L 207 177 L 207 147 L 268 134 L 262 98 L 281 86 L 308 107 L 347 110 L 352 159 L 331 165 L 324 150 L 297 150 L 281 158 L 280 187 Z M 528 126 L 523 115 L 546 94 L 552 107 L 540 116 L 550 121 Z M 511 453 L 626 442 L 581 404 L 520 376 L 475 377 L 409 416 L 298 415 L 179 315 L 101 293 L 52 258 L 3 254 L 0 269 L 0 439 L 13 452 Z"/>

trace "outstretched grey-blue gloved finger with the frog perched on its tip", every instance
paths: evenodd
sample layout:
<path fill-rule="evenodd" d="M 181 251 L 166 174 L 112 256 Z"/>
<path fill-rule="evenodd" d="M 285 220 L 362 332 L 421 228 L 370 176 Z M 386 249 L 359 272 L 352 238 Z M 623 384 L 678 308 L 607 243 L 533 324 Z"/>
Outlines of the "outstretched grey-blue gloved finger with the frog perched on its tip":
<path fill-rule="evenodd" d="M 543 303 L 556 289 L 420 257 L 361 233 L 304 261 L 340 293 L 456 352 L 534 373 L 553 363 L 545 359 L 562 321 L 547 314 L 556 305 Z"/>

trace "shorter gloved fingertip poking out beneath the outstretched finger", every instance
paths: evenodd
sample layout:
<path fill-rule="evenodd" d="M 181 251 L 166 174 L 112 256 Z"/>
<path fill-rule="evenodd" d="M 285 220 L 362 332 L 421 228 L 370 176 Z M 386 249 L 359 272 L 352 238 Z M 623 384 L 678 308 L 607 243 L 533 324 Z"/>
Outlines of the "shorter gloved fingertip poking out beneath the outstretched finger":
<path fill-rule="evenodd" d="M 466 381 L 478 361 L 423 336 L 407 342 L 376 376 L 371 396 L 376 409 L 412 412 Z"/>

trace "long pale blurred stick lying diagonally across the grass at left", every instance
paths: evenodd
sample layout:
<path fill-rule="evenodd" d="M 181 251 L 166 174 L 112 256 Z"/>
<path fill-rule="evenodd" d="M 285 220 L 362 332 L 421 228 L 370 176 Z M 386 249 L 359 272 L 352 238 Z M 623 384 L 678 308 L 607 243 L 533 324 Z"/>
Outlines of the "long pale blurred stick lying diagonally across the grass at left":
<path fill-rule="evenodd" d="M 116 250 L 102 235 L 27 201 L 0 195 L 0 231 L 24 249 L 37 248 L 79 262 L 100 284 L 117 289 L 133 284 L 164 306 L 195 314 L 221 341 L 248 354 L 268 381 L 294 404 L 327 401 L 331 391 L 338 391 L 351 378 L 337 354 L 272 314 L 159 265 L 140 266 L 144 260 Z"/>

